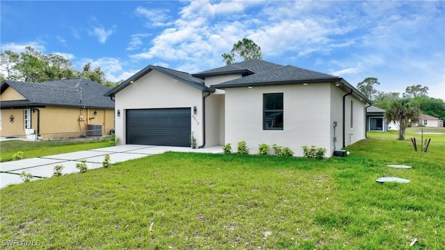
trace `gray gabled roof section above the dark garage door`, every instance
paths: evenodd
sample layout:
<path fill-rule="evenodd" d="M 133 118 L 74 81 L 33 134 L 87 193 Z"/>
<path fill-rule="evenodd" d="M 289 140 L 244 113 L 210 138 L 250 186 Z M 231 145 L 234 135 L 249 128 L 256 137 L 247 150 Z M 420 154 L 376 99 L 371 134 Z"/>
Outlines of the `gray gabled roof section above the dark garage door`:
<path fill-rule="evenodd" d="M 120 92 L 120 90 L 123 90 L 128 85 L 133 83 L 134 81 L 138 80 L 139 78 L 145 76 L 145 74 L 151 72 L 152 70 L 155 70 L 156 72 L 160 72 L 162 74 L 165 74 L 167 76 L 170 76 L 172 78 L 175 78 L 177 81 L 181 81 L 182 83 L 186 83 L 187 85 L 192 86 L 193 88 L 197 88 L 201 91 L 207 91 L 207 92 L 213 92 L 214 90 L 211 90 L 209 87 L 204 85 L 204 80 L 201 78 L 197 78 L 195 76 L 192 76 L 191 74 L 188 74 L 186 72 L 180 72 L 174 69 L 168 69 L 165 67 L 155 66 L 155 65 L 148 65 L 147 67 L 141 69 L 136 74 L 133 74 L 130 78 L 120 83 L 120 85 L 116 86 L 112 90 L 109 90 L 105 93 L 106 96 L 112 97 L 116 93 Z"/>

